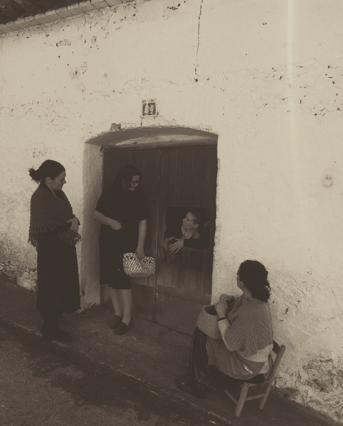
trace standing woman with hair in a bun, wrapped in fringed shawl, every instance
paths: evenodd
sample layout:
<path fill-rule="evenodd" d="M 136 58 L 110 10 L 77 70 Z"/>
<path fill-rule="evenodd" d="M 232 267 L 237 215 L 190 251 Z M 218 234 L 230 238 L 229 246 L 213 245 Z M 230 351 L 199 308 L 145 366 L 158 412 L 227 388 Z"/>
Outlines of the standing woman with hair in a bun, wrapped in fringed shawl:
<path fill-rule="evenodd" d="M 29 242 L 37 249 L 37 309 L 44 323 L 43 339 L 70 342 L 71 336 L 59 327 L 63 312 L 80 309 L 79 273 L 75 244 L 79 220 L 63 192 L 66 170 L 54 160 L 30 169 L 39 183 L 31 197 Z"/>

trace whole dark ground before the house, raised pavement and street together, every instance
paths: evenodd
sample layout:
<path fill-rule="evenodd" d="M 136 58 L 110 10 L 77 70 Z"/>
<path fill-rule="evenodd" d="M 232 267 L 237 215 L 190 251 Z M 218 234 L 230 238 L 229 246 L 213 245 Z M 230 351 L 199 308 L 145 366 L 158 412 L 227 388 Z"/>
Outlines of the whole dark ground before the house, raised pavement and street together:
<path fill-rule="evenodd" d="M 178 390 L 174 377 L 188 369 L 191 338 L 138 318 L 128 334 L 115 336 L 106 326 L 112 312 L 100 306 L 65 314 L 62 327 L 73 342 L 45 342 L 35 299 L 34 293 L 1 277 L 2 425 L 335 425 L 277 389 L 263 410 L 258 400 L 247 401 L 240 417 L 234 416 L 234 403 L 222 391 L 198 400 Z M 24 372 L 17 374 L 21 365 Z M 37 374 L 49 384 L 44 395 L 39 383 L 31 383 Z M 37 393 L 34 401 L 45 401 L 43 406 L 34 409 L 32 392 Z"/>

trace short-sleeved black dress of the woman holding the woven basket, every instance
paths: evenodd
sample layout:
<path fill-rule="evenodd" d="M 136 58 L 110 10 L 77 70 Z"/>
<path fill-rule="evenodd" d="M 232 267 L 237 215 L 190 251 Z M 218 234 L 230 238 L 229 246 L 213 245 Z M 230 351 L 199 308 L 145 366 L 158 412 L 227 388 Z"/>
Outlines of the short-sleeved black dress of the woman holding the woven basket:
<path fill-rule="evenodd" d="M 95 210 L 115 219 L 122 229 L 115 231 L 101 224 L 99 235 L 100 284 L 125 290 L 131 281 L 124 273 L 123 253 L 134 253 L 138 243 L 139 221 L 148 219 L 148 209 L 139 190 L 129 191 L 107 187 L 101 194 Z"/>

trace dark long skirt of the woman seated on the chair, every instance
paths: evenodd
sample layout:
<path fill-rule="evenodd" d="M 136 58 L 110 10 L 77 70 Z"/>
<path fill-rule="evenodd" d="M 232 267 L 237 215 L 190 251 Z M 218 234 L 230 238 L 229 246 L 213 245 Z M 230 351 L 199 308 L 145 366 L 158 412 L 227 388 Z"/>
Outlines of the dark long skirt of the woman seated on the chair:
<path fill-rule="evenodd" d="M 189 386 L 196 394 L 206 394 L 211 389 L 230 389 L 244 382 L 263 382 L 263 374 L 257 374 L 250 380 L 239 380 L 223 373 L 216 366 L 209 366 L 206 339 L 206 334 L 196 327 L 189 356 Z"/>

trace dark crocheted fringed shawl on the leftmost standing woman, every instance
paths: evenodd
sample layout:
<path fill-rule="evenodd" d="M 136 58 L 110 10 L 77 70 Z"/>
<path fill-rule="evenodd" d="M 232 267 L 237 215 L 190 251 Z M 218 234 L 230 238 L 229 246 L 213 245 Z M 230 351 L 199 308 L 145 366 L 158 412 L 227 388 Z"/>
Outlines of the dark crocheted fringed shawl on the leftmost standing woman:
<path fill-rule="evenodd" d="M 57 229 L 73 218 L 73 210 L 66 194 L 60 190 L 59 195 L 61 198 L 42 185 L 32 194 L 29 243 L 36 248 L 40 233 Z M 76 244 L 81 240 L 81 236 L 71 230 L 60 232 L 57 236 L 67 244 Z"/>

